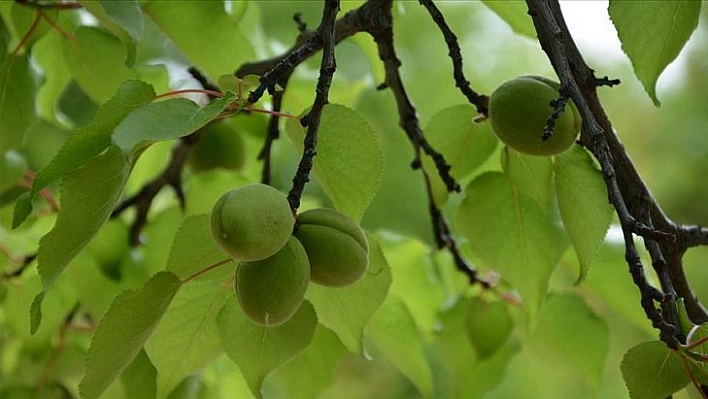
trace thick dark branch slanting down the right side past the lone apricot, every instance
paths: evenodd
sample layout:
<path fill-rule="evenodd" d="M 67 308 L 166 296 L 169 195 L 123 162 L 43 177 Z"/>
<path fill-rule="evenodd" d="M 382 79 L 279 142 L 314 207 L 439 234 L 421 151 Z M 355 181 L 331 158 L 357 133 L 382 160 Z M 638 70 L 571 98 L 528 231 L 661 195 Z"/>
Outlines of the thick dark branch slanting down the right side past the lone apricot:
<path fill-rule="evenodd" d="M 527 0 L 541 47 L 548 55 L 561 86 L 567 90 L 583 118 L 580 142 L 595 156 L 602 168 L 609 200 L 622 225 L 625 257 L 630 273 L 642 296 L 642 308 L 660 330 L 661 339 L 677 348 L 678 329 L 674 291 L 684 298 L 689 317 L 696 324 L 708 321 L 708 312 L 698 301 L 686 279 L 682 257 L 689 246 L 703 245 L 705 230 L 698 226 L 680 226 L 663 212 L 612 128 L 597 97 L 597 87 L 619 83 L 607 77 L 597 78 L 585 63 L 555 0 Z M 633 234 L 642 236 L 664 292 L 652 287 L 634 245 Z M 655 307 L 659 302 L 662 314 Z"/>

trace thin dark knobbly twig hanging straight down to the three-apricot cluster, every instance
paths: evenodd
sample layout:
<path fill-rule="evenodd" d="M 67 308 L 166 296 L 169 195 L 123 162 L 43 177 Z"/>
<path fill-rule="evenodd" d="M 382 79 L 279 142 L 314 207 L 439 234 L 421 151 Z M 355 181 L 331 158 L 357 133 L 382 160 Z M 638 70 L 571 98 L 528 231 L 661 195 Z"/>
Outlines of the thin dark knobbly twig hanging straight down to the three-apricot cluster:
<path fill-rule="evenodd" d="M 305 188 L 305 184 L 310 180 L 310 170 L 312 170 L 312 164 L 316 154 L 315 147 L 317 146 L 317 132 L 320 127 L 320 117 L 322 116 L 324 106 L 328 102 L 329 87 L 332 84 L 334 71 L 337 69 L 334 57 L 334 32 L 338 12 L 339 0 L 325 0 L 324 10 L 322 11 L 322 22 L 316 31 L 317 36 L 322 41 L 323 47 L 320 77 L 317 79 L 317 94 L 315 95 L 315 101 L 312 104 L 310 112 L 301 120 L 303 126 L 307 126 L 304 150 L 302 152 L 302 158 L 300 158 L 300 164 L 293 177 L 293 187 L 288 193 L 288 202 L 293 212 L 300 207 L 302 191 Z M 269 82 L 267 76 L 268 74 L 261 78 L 261 82 L 264 84 L 268 84 Z"/>

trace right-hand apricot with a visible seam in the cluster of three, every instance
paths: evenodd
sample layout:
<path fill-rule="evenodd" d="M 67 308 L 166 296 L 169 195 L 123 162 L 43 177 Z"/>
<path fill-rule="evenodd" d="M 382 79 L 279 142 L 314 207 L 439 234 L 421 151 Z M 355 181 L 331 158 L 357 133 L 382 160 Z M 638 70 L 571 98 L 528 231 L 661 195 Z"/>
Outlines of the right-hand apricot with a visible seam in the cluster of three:
<path fill-rule="evenodd" d="M 307 251 L 310 279 L 329 287 L 353 284 L 369 266 L 369 244 L 361 227 L 331 209 L 312 209 L 297 217 L 293 233 Z"/>

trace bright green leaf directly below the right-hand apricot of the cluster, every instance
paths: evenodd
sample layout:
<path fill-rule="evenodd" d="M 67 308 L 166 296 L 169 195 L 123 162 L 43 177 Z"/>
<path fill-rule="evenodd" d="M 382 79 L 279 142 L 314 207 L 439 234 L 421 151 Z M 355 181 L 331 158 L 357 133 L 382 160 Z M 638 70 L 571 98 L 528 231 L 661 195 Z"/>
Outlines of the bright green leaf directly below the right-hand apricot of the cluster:
<path fill-rule="evenodd" d="M 334 331 L 352 352 L 363 353 L 364 328 L 386 298 L 391 285 L 391 270 L 378 241 L 369 239 L 369 269 L 356 283 L 347 287 L 310 284 L 306 297 L 317 311 L 319 322 Z"/>

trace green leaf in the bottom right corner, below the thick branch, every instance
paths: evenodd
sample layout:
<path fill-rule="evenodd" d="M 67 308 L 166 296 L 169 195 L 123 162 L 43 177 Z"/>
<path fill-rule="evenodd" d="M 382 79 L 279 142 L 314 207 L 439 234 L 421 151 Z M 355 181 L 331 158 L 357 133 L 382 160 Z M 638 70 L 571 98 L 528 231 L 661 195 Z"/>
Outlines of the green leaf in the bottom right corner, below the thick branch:
<path fill-rule="evenodd" d="M 632 399 L 663 399 L 689 383 L 679 353 L 661 341 L 628 350 L 621 369 Z"/>

